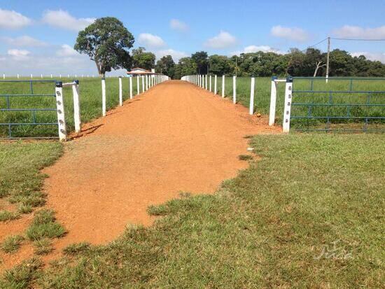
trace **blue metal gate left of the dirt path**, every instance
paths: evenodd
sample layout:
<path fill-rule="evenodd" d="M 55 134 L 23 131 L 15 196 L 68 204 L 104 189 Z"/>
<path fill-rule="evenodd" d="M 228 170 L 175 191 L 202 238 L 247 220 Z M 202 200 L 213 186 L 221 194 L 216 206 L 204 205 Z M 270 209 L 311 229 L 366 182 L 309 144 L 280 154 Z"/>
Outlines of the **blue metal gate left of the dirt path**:
<path fill-rule="evenodd" d="M 0 80 L 0 139 L 57 139 L 56 80 Z"/>

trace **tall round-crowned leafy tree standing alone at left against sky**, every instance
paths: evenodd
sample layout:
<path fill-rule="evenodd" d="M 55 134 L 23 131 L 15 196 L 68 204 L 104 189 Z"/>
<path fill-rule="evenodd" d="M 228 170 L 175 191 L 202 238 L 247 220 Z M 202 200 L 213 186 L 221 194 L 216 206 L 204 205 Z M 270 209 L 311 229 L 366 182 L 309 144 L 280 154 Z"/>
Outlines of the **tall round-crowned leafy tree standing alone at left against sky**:
<path fill-rule="evenodd" d="M 97 66 L 99 76 L 104 76 L 111 69 L 130 69 L 130 52 L 134 36 L 115 17 L 103 17 L 95 20 L 76 38 L 75 50 L 87 54 Z"/>

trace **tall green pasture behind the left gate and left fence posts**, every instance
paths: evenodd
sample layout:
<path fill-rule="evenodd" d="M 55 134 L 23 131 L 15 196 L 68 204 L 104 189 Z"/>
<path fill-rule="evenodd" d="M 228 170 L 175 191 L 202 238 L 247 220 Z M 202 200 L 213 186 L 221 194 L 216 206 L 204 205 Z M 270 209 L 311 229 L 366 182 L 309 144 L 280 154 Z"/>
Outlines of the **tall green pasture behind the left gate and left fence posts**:
<path fill-rule="evenodd" d="M 50 80 L 50 79 L 48 79 Z M 72 79 L 62 78 L 63 83 Z M 80 78 L 80 114 L 83 123 L 90 122 L 102 116 L 102 83 L 100 78 Z M 141 85 L 141 83 L 140 83 Z M 132 81 L 133 95 L 137 94 L 137 78 Z M 55 83 L 34 83 L 34 94 L 55 94 Z M 142 87 L 140 87 L 142 91 Z M 0 94 L 29 94 L 30 84 L 27 83 L 1 83 Z M 64 108 L 66 113 L 67 130 L 72 132 L 73 127 L 73 99 L 71 87 L 64 87 Z M 128 78 L 123 78 L 123 100 L 130 98 L 130 83 Z M 55 108 L 55 97 L 10 97 L 10 108 Z M 107 110 L 119 104 L 118 78 L 106 78 L 106 108 Z M 0 108 L 7 107 L 7 98 L 0 97 Z M 55 111 L 36 111 L 36 122 L 55 122 Z M 33 122 L 31 112 L 0 111 L 1 122 Z M 57 126 L 14 126 L 13 136 L 57 136 Z M 8 127 L 0 126 L 0 137 L 8 135 Z"/>

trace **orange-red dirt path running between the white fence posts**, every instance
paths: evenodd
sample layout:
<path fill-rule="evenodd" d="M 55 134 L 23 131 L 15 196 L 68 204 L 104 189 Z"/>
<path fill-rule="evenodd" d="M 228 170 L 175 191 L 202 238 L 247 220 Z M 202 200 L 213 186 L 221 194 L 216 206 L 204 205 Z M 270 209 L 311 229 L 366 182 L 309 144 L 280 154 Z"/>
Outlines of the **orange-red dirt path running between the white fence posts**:
<path fill-rule="evenodd" d="M 247 153 L 244 136 L 279 130 L 241 105 L 177 80 L 126 101 L 85 125 L 83 136 L 66 143 L 64 155 L 43 170 L 47 207 L 68 230 L 48 259 L 74 242 L 106 244 L 127 224 L 151 225 L 148 206 L 180 192 L 213 193 L 246 168 L 238 159 Z M 15 221 L 14 229 L 29 220 Z M 25 247 L 3 265 L 31 255 Z"/>

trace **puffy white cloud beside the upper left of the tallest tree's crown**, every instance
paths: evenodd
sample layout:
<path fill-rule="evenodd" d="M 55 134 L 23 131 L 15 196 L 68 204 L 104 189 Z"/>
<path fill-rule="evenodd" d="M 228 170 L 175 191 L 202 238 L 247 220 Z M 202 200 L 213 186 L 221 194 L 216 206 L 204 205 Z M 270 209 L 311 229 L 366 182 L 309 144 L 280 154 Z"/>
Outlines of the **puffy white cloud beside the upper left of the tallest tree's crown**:
<path fill-rule="evenodd" d="M 95 18 L 76 18 L 64 10 L 47 10 L 43 22 L 62 29 L 80 31 L 92 24 Z"/>

